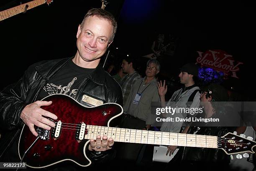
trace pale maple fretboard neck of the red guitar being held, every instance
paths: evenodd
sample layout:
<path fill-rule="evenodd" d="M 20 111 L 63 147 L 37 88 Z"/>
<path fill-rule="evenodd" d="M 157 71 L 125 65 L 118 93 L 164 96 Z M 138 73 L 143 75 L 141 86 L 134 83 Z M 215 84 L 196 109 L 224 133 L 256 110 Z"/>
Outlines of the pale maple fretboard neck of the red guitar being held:
<path fill-rule="evenodd" d="M 114 141 L 117 142 L 218 148 L 217 136 L 146 131 L 139 129 L 92 125 L 87 125 L 86 129 L 87 134 L 84 136 L 84 139 L 96 139 L 97 135 L 100 135 L 101 137 L 106 135 L 113 138 Z"/>

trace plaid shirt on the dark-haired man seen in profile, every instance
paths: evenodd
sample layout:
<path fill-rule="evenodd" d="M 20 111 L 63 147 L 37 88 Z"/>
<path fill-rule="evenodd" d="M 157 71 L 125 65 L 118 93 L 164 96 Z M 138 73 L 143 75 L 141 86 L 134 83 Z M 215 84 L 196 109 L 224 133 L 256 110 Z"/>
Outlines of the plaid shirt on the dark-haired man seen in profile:
<path fill-rule="evenodd" d="M 123 104 L 125 104 L 126 100 L 128 99 L 132 85 L 139 78 L 141 78 L 141 75 L 134 71 L 132 74 L 127 74 L 121 79 L 120 86 L 123 90 Z"/>

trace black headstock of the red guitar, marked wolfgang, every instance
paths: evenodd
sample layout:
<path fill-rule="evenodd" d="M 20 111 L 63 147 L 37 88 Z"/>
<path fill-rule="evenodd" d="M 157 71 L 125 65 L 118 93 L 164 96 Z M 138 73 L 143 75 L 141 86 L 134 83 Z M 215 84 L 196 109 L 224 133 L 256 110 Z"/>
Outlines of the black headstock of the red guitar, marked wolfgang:
<path fill-rule="evenodd" d="M 228 133 L 218 139 L 218 147 L 223 149 L 226 154 L 255 153 L 252 149 L 254 146 L 256 146 L 255 141 L 232 133 Z"/>

